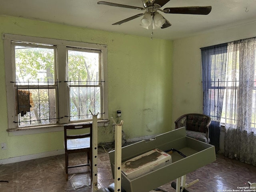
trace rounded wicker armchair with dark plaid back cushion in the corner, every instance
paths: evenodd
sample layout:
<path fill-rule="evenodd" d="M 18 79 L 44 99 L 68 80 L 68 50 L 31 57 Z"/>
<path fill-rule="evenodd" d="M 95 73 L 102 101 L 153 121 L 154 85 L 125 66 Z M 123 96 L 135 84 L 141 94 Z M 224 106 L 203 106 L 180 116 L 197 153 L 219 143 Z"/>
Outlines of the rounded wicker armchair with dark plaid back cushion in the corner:
<path fill-rule="evenodd" d="M 210 143 L 209 126 L 211 121 L 211 118 L 204 114 L 184 114 L 175 121 L 175 129 L 185 127 L 188 137 Z"/>

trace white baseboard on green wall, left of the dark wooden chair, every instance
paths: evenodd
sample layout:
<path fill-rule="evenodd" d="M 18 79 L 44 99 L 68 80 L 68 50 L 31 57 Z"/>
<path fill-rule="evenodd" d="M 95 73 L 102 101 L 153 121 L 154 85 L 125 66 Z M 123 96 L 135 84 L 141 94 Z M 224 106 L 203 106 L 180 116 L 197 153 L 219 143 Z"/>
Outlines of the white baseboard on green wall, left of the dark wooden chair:
<path fill-rule="evenodd" d="M 61 150 L 54 150 L 54 151 L 48 151 L 48 152 L 43 152 L 43 153 L 31 154 L 31 155 L 11 157 L 8 159 L 1 159 L 0 164 L 16 163 L 16 162 L 21 162 L 21 161 L 26 161 L 26 160 L 60 155 L 60 154 L 64 154 L 64 153 L 65 153 L 65 150 L 61 149 Z"/>

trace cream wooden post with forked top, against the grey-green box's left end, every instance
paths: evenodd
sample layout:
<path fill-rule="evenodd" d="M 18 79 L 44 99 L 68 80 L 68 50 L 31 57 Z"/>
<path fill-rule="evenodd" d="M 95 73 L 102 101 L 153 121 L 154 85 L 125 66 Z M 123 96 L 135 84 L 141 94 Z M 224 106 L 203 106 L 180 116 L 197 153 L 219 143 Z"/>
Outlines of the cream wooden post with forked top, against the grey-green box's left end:
<path fill-rule="evenodd" d="M 122 124 L 123 120 L 120 124 L 116 124 L 114 119 L 112 118 L 115 126 L 115 168 L 114 168 L 114 184 L 115 190 L 114 192 L 121 191 L 121 163 L 122 163 Z"/>

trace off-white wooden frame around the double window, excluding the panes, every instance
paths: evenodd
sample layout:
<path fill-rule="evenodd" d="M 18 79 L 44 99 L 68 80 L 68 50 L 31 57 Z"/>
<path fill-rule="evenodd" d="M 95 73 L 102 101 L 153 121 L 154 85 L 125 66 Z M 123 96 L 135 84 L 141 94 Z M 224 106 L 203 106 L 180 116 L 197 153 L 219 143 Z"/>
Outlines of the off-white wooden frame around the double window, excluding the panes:
<path fill-rule="evenodd" d="M 8 114 L 8 131 L 13 130 L 26 130 L 26 129 L 34 129 L 34 128 L 49 128 L 49 127 L 62 127 L 63 124 L 70 123 L 67 117 L 69 114 L 68 109 L 68 89 L 67 84 L 64 82 L 68 80 L 68 66 L 66 63 L 67 58 L 67 48 L 88 48 L 88 49 L 95 49 L 100 50 L 102 53 L 102 78 L 104 80 L 104 84 L 102 85 L 102 118 L 98 119 L 98 122 L 102 122 L 98 124 L 98 126 L 106 126 L 106 122 L 108 122 L 108 80 L 107 80 L 107 46 L 103 44 L 94 44 L 94 43 L 87 43 L 87 42 L 76 42 L 76 41 L 69 41 L 69 40 L 59 40 L 59 39 L 52 39 L 52 38 L 42 38 L 42 37 L 32 37 L 32 36 L 23 36 L 23 35 L 16 35 L 16 34 L 2 34 L 2 39 L 4 42 L 4 62 L 5 62 L 5 76 L 6 76 L 6 96 L 7 96 L 7 114 Z M 40 125 L 40 126 L 29 126 L 24 128 L 19 128 L 16 126 L 15 121 L 15 112 L 16 112 L 16 100 L 15 100 L 15 86 L 13 83 L 10 83 L 14 79 L 15 76 L 15 61 L 13 61 L 13 49 L 12 49 L 12 42 L 30 42 L 36 44 L 49 44 L 56 46 L 56 78 L 58 81 L 62 83 L 58 86 L 58 110 L 59 110 L 59 124 L 54 125 Z M 58 114 L 57 114 L 58 115 Z M 90 120 L 91 121 L 91 120 Z M 79 121 L 85 122 L 85 121 Z M 73 121 L 72 121 L 73 123 Z M 48 132 L 48 131 L 47 131 Z"/>

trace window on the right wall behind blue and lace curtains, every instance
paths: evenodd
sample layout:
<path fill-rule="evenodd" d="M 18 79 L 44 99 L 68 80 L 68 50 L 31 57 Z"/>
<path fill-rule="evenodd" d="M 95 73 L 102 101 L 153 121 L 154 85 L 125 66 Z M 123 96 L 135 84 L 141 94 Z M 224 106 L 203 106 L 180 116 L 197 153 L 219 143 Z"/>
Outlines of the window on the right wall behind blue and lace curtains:
<path fill-rule="evenodd" d="M 255 38 L 201 50 L 204 112 L 229 127 L 255 131 Z"/>

